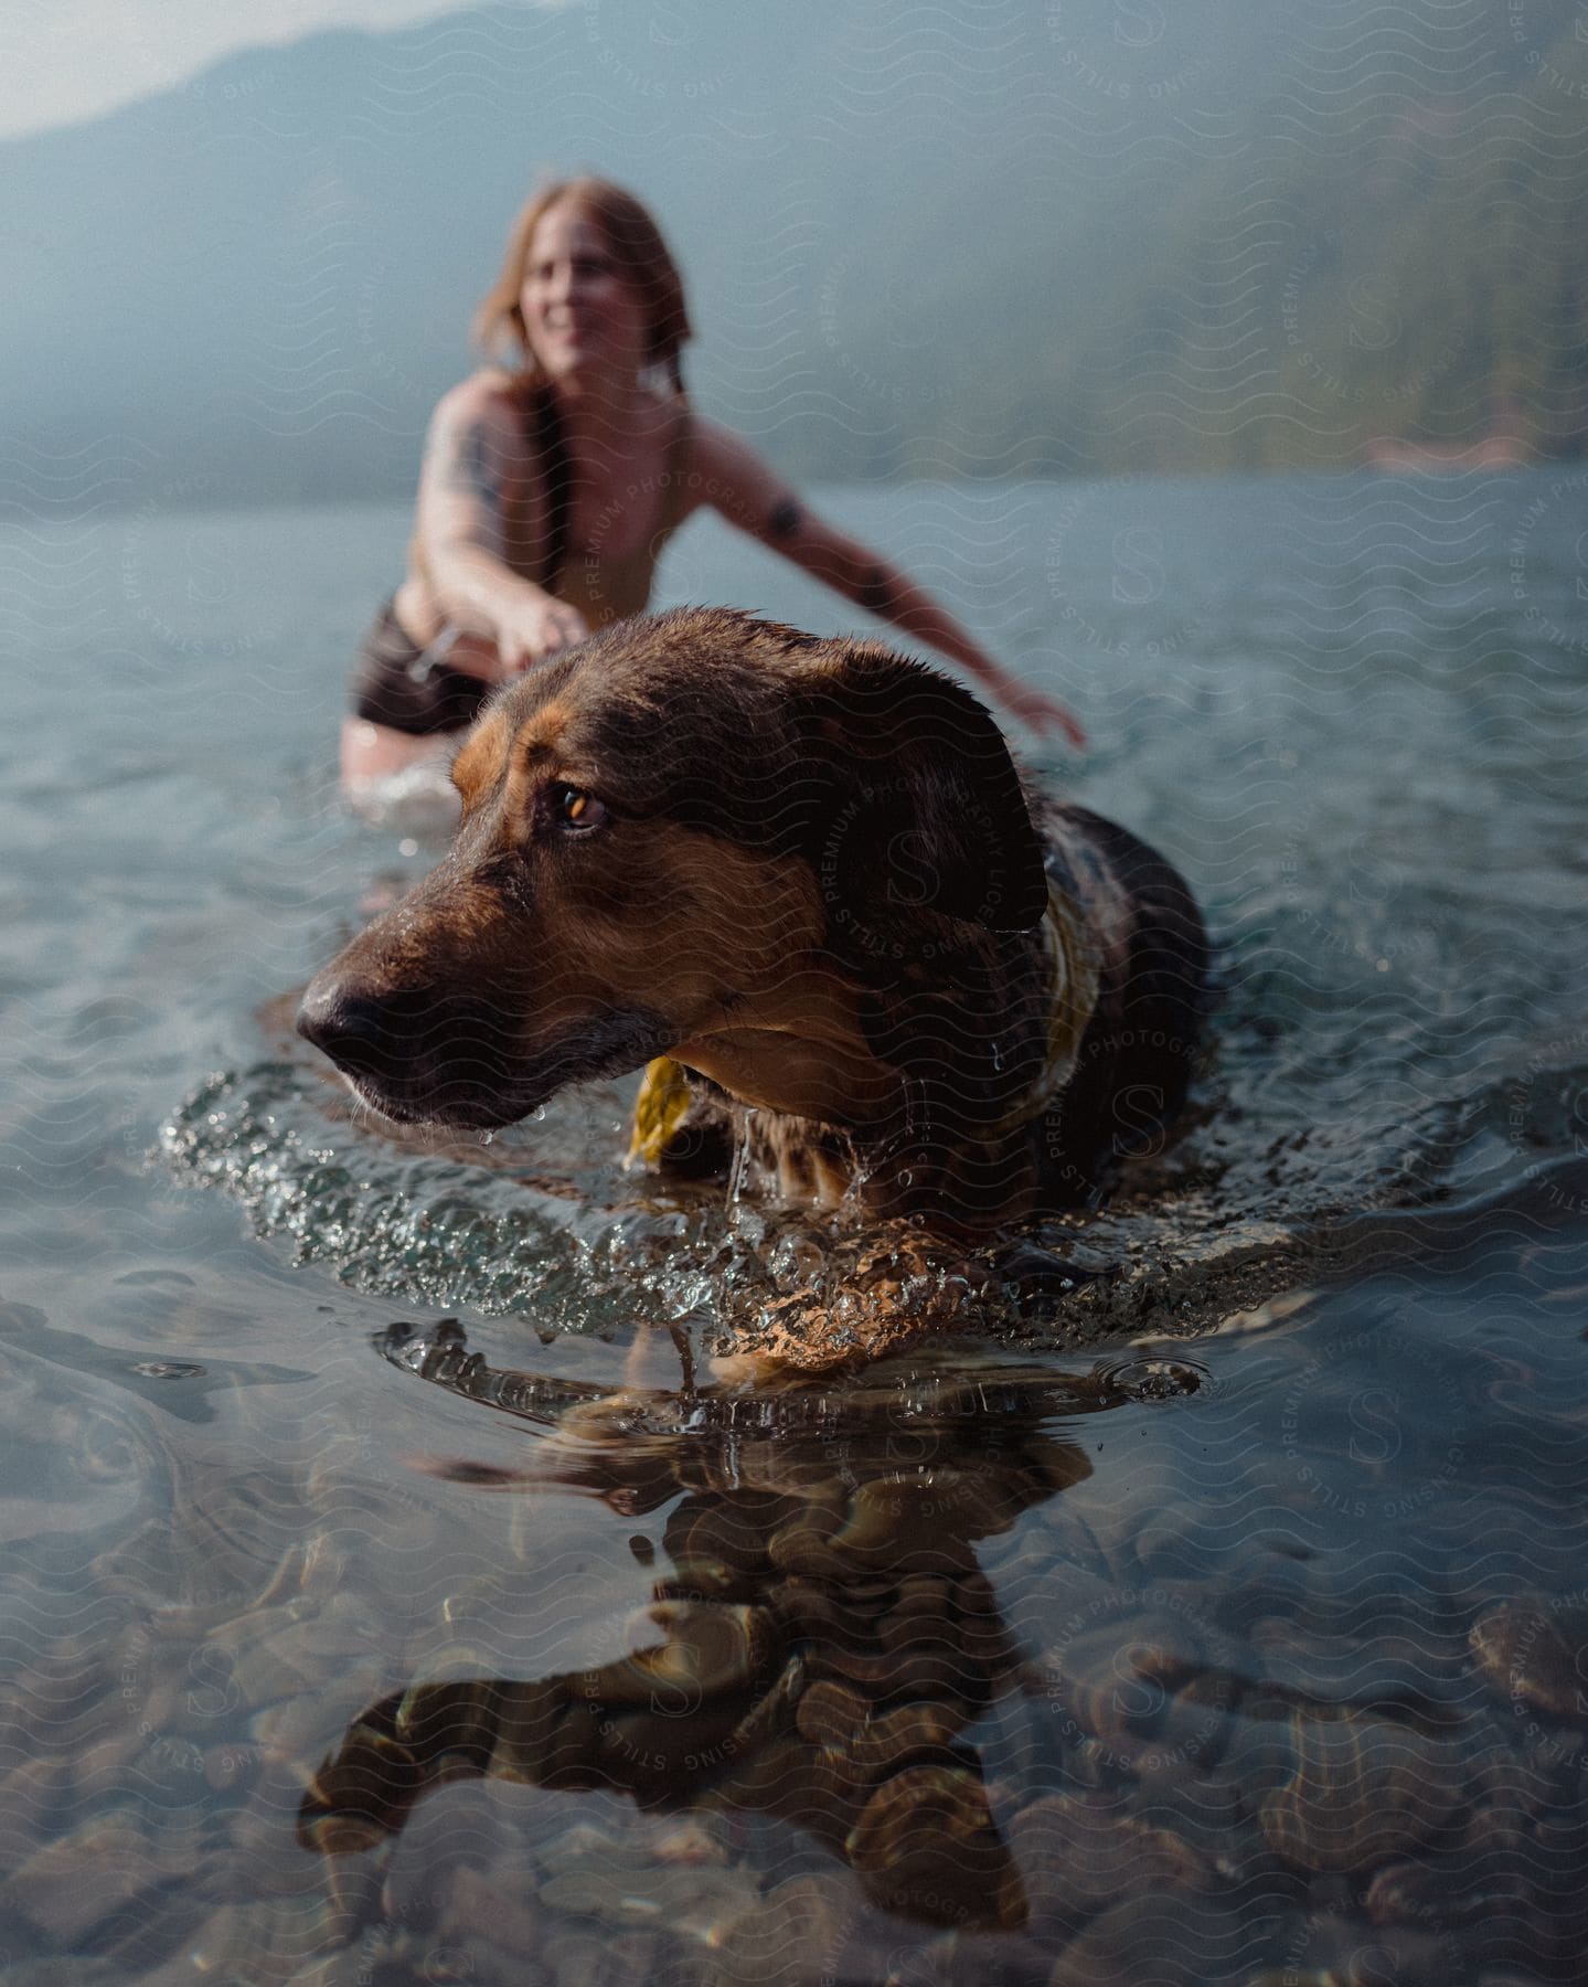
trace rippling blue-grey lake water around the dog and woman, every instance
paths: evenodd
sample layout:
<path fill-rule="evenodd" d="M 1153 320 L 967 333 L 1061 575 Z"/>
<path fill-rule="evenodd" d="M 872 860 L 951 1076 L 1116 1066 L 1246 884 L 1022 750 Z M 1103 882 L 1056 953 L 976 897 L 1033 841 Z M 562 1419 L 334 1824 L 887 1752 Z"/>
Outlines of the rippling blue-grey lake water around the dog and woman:
<path fill-rule="evenodd" d="M 1018 1307 L 624 1174 L 624 1085 L 360 1121 L 284 1017 L 433 856 L 334 795 L 405 519 L 10 527 L 0 1981 L 1580 1977 L 1584 487 L 831 493 L 1220 946 Z"/>

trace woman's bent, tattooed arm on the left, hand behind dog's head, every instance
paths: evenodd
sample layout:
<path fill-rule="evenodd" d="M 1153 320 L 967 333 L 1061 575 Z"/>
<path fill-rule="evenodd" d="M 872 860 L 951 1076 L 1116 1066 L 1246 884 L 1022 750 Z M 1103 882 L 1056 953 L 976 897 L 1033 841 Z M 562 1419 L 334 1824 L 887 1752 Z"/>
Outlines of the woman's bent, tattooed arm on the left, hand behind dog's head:
<path fill-rule="evenodd" d="M 588 634 L 578 608 L 505 560 L 505 493 L 527 467 L 519 415 L 497 378 L 477 374 L 441 399 L 413 536 L 435 608 L 463 634 L 495 642 L 503 680 Z"/>

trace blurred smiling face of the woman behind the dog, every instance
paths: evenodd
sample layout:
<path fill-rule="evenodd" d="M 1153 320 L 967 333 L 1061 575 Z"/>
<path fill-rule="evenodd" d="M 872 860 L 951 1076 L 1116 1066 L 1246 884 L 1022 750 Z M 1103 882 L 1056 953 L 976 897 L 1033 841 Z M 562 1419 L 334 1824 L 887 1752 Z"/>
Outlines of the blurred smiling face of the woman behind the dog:
<path fill-rule="evenodd" d="M 632 382 L 646 362 L 646 318 L 596 221 L 558 201 L 535 225 L 519 290 L 525 336 L 549 380 L 598 374 Z"/>

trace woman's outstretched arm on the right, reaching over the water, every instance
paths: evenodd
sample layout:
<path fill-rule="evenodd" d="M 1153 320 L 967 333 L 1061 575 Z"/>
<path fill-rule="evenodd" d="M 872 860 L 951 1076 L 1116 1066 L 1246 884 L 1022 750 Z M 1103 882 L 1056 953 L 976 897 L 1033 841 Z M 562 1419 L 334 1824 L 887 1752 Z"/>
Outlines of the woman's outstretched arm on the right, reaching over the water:
<path fill-rule="evenodd" d="M 1020 717 L 1037 735 L 1059 729 L 1071 745 L 1085 745 L 1085 731 L 1061 703 L 1022 684 L 994 662 L 968 630 L 898 566 L 807 511 L 789 485 L 737 435 L 714 421 L 696 421 L 694 467 L 702 477 L 704 499 L 729 525 L 781 552 L 867 614 L 892 622 L 904 634 L 930 642 L 944 656 L 964 664 L 1012 717 Z"/>

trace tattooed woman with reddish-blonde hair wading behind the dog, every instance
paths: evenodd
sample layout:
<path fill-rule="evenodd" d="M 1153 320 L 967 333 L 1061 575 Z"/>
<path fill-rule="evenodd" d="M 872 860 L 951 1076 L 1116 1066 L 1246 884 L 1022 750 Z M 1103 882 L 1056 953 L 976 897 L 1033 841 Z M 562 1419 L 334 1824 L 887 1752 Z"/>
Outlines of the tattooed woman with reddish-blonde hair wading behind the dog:
<path fill-rule="evenodd" d="M 1059 703 L 694 413 L 684 284 L 630 193 L 600 179 L 539 193 L 475 332 L 487 350 L 511 340 L 521 364 L 473 374 L 435 409 L 407 578 L 366 638 L 342 727 L 354 795 L 433 757 L 497 684 L 642 612 L 662 546 L 702 505 L 962 662 L 1033 731 L 1083 743 Z"/>

